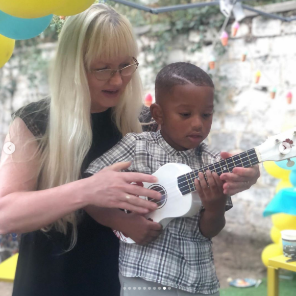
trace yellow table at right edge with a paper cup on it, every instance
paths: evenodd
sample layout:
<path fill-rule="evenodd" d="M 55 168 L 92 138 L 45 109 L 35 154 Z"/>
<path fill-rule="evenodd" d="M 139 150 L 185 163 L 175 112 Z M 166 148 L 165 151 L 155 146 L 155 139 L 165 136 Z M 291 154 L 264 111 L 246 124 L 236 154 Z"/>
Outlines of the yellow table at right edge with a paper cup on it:
<path fill-rule="evenodd" d="M 279 296 L 279 269 L 296 272 L 296 262 L 287 263 L 284 255 L 270 258 L 267 266 L 267 296 Z"/>

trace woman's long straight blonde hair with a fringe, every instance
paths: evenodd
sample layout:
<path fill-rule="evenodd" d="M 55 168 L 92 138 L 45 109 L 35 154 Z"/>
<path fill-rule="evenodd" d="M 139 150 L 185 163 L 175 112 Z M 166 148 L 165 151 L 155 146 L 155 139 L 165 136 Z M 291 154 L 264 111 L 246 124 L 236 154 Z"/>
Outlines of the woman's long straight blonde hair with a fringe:
<path fill-rule="evenodd" d="M 92 141 L 91 99 L 86 71 L 93 59 L 122 54 L 137 57 L 138 48 L 129 20 L 104 4 L 66 19 L 59 36 L 51 68 L 50 116 L 40 139 L 41 170 L 38 189 L 76 181 Z M 126 87 L 112 116 L 122 135 L 141 132 L 138 120 L 142 106 L 142 84 L 138 71 Z M 63 196 L 61 196 L 61 199 Z M 64 234 L 72 226 L 71 249 L 77 241 L 78 213 L 69 214 L 53 225 Z"/>

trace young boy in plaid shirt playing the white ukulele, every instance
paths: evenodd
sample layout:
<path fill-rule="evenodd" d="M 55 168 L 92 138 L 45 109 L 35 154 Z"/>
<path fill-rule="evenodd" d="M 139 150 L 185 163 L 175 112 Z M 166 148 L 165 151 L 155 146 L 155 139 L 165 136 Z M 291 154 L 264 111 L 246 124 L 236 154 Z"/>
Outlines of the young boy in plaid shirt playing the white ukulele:
<path fill-rule="evenodd" d="M 214 108 L 214 85 L 205 71 L 189 63 L 167 65 L 156 77 L 155 97 L 150 110 L 161 130 L 127 134 L 87 173 L 121 161 L 133 161 L 128 171 L 153 174 L 169 162 L 198 169 L 221 160 L 203 143 Z M 208 184 L 202 173 L 195 180 L 203 204 L 198 214 L 175 218 L 148 245 L 120 241 L 121 295 L 219 295 L 211 237 L 224 228 L 232 203 L 218 175 L 206 176 Z"/>

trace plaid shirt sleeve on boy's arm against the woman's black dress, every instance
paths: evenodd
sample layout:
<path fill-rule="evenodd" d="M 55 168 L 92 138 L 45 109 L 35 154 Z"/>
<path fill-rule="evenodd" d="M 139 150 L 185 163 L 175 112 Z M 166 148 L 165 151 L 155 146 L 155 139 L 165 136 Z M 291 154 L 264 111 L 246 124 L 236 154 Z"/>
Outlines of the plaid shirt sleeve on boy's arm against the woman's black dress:
<path fill-rule="evenodd" d="M 127 134 L 109 151 L 92 161 L 85 170 L 85 175 L 94 175 L 105 166 L 117 162 L 132 161 L 135 157 L 136 142 L 137 140 L 134 133 Z"/>

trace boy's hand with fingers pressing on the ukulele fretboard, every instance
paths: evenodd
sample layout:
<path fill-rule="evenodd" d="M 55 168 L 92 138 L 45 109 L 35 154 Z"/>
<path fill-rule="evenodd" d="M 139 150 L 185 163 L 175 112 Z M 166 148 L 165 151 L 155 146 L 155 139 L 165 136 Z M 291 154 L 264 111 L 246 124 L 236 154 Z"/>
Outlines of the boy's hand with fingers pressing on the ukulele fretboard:
<path fill-rule="evenodd" d="M 216 213 L 225 211 L 227 195 L 223 193 L 223 182 L 220 180 L 216 172 L 206 171 L 206 179 L 204 174 L 199 172 L 199 178 L 195 179 L 194 184 L 198 191 L 203 207 L 207 212 Z"/>

